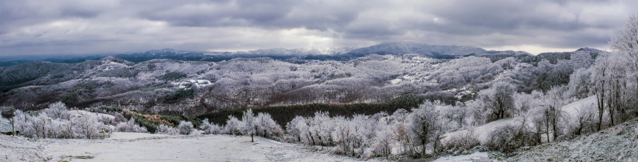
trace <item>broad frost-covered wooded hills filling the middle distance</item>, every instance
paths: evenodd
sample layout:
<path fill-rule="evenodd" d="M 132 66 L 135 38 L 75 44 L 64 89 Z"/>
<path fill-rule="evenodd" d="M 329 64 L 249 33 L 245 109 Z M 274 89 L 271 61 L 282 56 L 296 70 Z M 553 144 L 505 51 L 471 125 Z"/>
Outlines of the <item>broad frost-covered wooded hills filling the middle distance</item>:
<path fill-rule="evenodd" d="M 149 51 L 145 55 L 182 53 Z M 413 93 L 455 104 L 498 79 L 517 91 L 566 84 L 597 53 L 480 55 L 453 60 L 417 54 L 367 55 L 305 64 L 272 58 L 221 62 L 168 59 L 133 63 L 105 57 L 76 64 L 29 62 L 0 68 L 2 105 L 42 109 L 62 100 L 72 107 L 101 105 L 196 116 L 230 108 L 310 103 L 380 103 Z M 551 60 L 551 61 L 547 61 Z M 473 89 L 470 91 L 470 89 Z"/>

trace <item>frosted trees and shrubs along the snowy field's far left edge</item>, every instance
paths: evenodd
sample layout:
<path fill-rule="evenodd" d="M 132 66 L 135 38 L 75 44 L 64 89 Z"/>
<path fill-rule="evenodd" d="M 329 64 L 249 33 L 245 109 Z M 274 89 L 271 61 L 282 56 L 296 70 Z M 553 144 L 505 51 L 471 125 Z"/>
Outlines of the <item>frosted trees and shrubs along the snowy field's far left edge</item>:
<path fill-rule="evenodd" d="M 216 133 L 207 120 L 188 116 L 166 116 L 117 107 L 69 109 L 62 102 L 40 111 L 15 111 L 15 129 L 29 138 L 106 138 L 112 132 L 198 135 Z M 1 125 L 10 125 L 1 118 Z M 219 128 L 217 126 L 216 128 Z M 279 128 L 281 129 L 281 128 Z"/>

